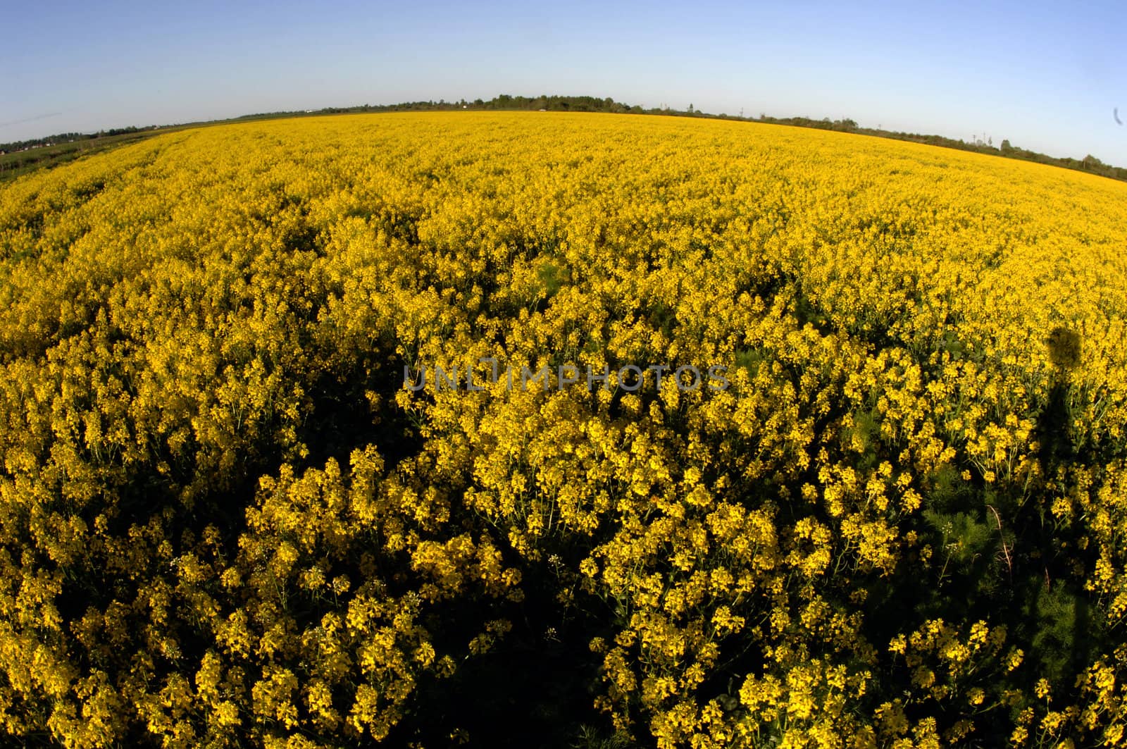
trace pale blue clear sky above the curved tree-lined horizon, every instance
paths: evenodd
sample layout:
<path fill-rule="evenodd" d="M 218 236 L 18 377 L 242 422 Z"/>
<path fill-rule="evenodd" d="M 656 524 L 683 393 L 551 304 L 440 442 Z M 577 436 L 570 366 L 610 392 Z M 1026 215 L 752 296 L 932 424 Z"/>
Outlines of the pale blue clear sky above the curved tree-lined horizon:
<path fill-rule="evenodd" d="M 1127 0 L 0 0 L 0 142 L 278 109 L 613 97 L 1127 166 Z"/>

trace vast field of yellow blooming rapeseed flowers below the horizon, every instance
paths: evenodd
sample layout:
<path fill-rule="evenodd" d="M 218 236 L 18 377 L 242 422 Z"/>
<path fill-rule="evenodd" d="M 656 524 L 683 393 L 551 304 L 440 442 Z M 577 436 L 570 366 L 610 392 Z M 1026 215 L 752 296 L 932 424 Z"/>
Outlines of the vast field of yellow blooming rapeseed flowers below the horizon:
<path fill-rule="evenodd" d="M 6 184 L 0 263 L 6 743 L 1127 742 L 1127 184 L 308 117 Z"/>

